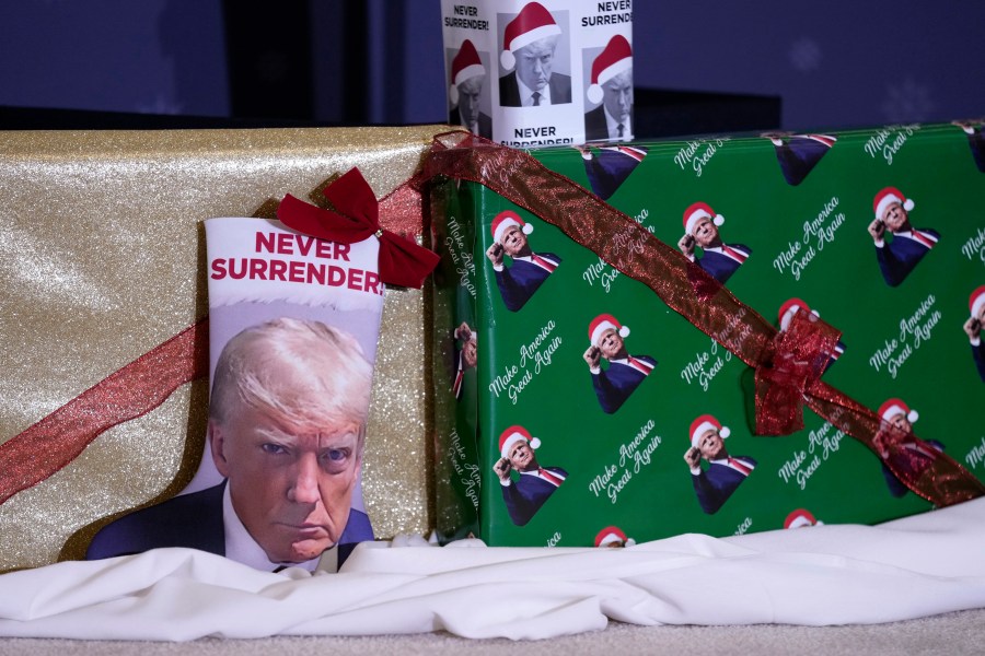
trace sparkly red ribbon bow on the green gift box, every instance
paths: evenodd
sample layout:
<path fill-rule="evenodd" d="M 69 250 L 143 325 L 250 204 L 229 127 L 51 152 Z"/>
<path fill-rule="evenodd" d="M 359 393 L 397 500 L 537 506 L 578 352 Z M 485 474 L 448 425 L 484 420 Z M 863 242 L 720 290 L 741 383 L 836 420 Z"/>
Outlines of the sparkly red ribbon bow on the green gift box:
<path fill-rule="evenodd" d="M 756 367 L 756 434 L 803 429 L 803 395 L 827 368 L 841 332 L 809 312 L 797 312 L 773 340 L 773 360 Z"/>

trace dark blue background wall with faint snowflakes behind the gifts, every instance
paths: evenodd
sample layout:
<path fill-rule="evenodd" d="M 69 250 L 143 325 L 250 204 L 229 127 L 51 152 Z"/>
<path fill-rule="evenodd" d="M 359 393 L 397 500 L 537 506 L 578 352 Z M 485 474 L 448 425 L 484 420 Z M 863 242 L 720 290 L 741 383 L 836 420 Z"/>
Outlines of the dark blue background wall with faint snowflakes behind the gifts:
<path fill-rule="evenodd" d="M 711 4 L 635 3 L 637 87 L 779 96 L 786 129 L 985 114 L 981 0 Z M 444 119 L 438 0 L 0 0 L 0 106 Z"/>

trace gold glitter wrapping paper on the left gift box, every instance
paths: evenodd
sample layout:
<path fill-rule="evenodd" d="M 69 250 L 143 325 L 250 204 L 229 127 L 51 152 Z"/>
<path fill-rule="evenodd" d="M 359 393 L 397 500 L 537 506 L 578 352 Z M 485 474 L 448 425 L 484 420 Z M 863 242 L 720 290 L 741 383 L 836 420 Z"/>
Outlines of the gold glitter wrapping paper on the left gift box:
<path fill-rule="evenodd" d="M 0 443 L 208 312 L 202 220 L 352 166 L 382 197 L 443 129 L 0 132 Z M 424 292 L 387 290 L 362 477 L 383 538 L 432 524 L 424 313 Z M 81 558 L 106 517 L 181 490 L 207 398 L 179 388 L 0 505 L 0 571 Z"/>

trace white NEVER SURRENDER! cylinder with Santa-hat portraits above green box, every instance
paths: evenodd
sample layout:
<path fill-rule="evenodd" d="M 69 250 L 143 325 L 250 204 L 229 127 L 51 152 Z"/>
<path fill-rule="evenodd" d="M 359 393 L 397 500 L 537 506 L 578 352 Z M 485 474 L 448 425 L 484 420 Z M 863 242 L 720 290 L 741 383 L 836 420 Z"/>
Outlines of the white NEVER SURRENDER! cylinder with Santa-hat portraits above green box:
<path fill-rule="evenodd" d="M 633 139 L 630 0 L 441 1 L 449 124 L 515 148 Z"/>

